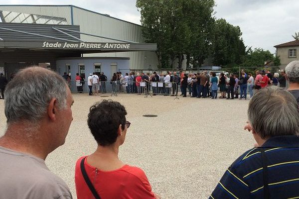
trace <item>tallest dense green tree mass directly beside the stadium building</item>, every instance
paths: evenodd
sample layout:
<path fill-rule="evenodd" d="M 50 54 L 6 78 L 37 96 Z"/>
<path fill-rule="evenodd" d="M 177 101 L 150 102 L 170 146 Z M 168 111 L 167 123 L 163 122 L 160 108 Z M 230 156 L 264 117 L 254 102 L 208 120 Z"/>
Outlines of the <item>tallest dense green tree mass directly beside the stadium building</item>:
<path fill-rule="evenodd" d="M 146 42 L 157 44 L 158 67 L 178 67 L 186 55 L 202 63 L 209 55 L 214 0 L 137 0 Z M 170 61 L 170 62 L 169 62 Z"/>

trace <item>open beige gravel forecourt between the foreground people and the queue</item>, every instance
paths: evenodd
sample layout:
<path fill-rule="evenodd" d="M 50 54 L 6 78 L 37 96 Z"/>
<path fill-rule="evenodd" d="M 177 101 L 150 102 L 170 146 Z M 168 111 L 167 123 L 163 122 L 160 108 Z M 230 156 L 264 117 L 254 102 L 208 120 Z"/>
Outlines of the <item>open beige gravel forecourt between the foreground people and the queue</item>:
<path fill-rule="evenodd" d="M 230 164 L 255 143 L 251 133 L 243 130 L 249 100 L 173 100 L 126 94 L 73 97 L 74 120 L 66 143 L 47 157 L 46 164 L 68 184 L 74 198 L 76 160 L 96 149 L 87 126 L 89 107 L 95 101 L 112 99 L 125 105 L 132 124 L 120 148 L 120 159 L 141 167 L 162 199 L 208 198 Z M 6 125 L 3 104 L 0 100 L 0 135 Z M 158 116 L 147 118 L 144 114 Z"/>

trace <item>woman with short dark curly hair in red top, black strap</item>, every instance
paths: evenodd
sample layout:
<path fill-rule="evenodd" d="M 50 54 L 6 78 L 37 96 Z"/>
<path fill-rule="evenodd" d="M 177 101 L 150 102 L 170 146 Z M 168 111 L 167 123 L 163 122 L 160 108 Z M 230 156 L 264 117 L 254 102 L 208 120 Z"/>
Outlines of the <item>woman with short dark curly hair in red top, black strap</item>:
<path fill-rule="evenodd" d="M 90 108 L 87 122 L 98 147 L 94 153 L 79 158 L 76 163 L 78 199 L 94 199 L 81 172 L 81 161 L 101 199 L 159 199 L 151 191 L 144 171 L 126 165 L 118 158 L 119 147 L 125 142 L 131 124 L 126 121 L 126 114 L 125 107 L 112 100 L 103 100 Z"/>

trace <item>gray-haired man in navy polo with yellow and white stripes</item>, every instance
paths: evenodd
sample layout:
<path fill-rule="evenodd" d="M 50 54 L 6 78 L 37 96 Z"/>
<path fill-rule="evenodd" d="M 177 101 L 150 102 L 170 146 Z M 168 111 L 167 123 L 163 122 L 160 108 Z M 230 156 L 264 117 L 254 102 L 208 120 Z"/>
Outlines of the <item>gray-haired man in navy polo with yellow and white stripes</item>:
<path fill-rule="evenodd" d="M 259 90 L 249 102 L 257 147 L 225 172 L 210 199 L 295 199 L 299 196 L 299 107 L 278 87 Z"/>

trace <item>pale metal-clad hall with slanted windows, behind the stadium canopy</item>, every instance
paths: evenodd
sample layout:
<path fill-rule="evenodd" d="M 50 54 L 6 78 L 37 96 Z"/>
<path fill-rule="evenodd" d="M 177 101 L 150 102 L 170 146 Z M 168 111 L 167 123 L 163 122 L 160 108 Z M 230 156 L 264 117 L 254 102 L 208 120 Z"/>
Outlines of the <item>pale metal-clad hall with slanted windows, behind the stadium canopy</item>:
<path fill-rule="evenodd" d="M 0 5 L 4 23 L 31 23 L 80 26 L 80 39 L 85 42 L 144 43 L 142 26 L 107 14 L 74 5 Z M 158 62 L 153 51 L 114 51 L 82 53 L 82 57 L 129 58 L 130 69 L 155 69 Z"/>

